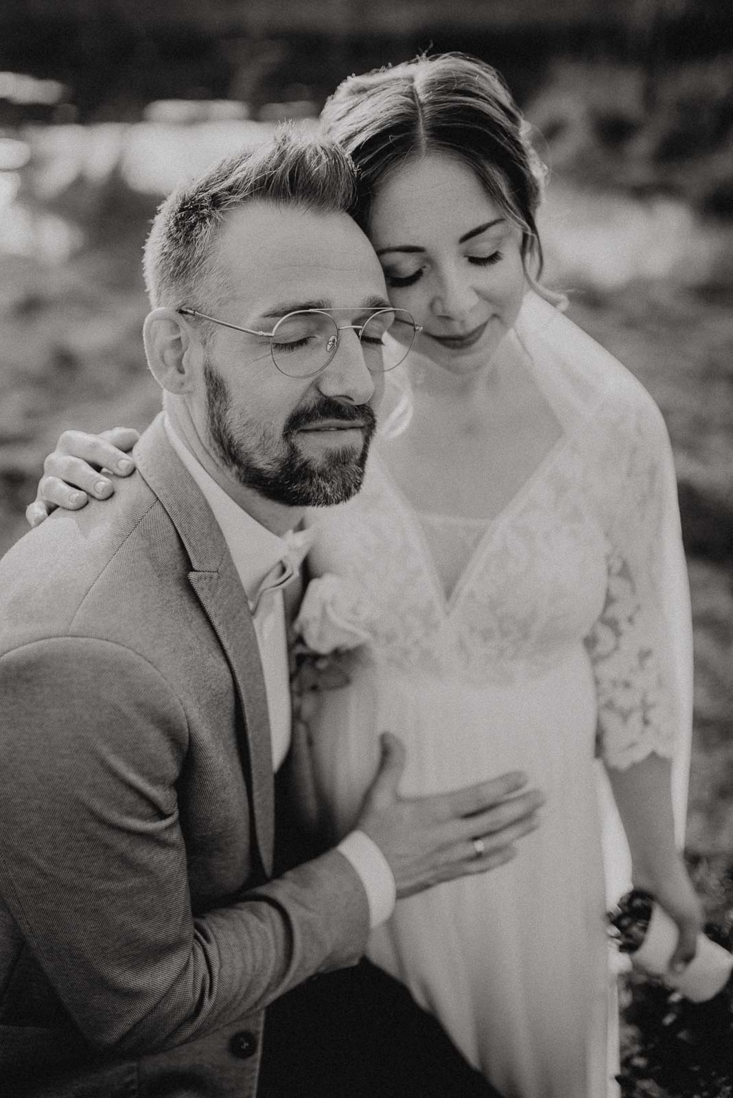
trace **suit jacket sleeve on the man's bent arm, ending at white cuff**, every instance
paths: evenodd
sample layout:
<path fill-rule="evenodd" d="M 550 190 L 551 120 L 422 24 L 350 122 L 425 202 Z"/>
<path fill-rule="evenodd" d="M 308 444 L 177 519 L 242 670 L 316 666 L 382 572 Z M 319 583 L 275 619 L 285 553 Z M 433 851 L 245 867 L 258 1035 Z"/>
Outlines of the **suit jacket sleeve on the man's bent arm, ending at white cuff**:
<path fill-rule="evenodd" d="M 140 656 L 40 640 L 0 659 L 0 889 L 88 1040 L 177 1045 L 363 952 L 365 894 L 337 851 L 193 917 L 187 718 Z"/>

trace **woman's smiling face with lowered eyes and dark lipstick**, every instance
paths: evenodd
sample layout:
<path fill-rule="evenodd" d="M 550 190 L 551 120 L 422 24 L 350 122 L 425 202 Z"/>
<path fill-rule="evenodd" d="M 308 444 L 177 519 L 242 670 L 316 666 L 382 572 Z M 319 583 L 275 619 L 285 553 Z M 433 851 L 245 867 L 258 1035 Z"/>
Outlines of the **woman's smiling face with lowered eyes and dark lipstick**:
<path fill-rule="evenodd" d="M 422 325 L 415 349 L 453 373 L 485 366 L 526 281 L 521 231 L 471 169 L 439 153 L 408 161 L 379 191 L 370 236 L 392 303 Z"/>

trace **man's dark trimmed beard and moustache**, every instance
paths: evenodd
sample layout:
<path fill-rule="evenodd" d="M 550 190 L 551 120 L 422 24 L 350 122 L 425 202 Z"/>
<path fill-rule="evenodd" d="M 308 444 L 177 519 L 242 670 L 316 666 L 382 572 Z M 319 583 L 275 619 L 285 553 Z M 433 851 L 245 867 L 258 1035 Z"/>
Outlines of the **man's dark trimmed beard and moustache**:
<path fill-rule="evenodd" d="M 240 484 L 289 507 L 330 507 L 350 500 L 361 488 L 369 444 L 376 416 L 369 404 L 342 404 L 320 396 L 307 408 L 297 408 L 280 438 L 272 428 L 246 417 L 235 419 L 228 386 L 211 363 L 204 366 L 208 437 L 214 450 Z M 320 419 L 363 424 L 361 451 L 353 446 L 334 449 L 317 461 L 302 453 L 296 432 Z"/>

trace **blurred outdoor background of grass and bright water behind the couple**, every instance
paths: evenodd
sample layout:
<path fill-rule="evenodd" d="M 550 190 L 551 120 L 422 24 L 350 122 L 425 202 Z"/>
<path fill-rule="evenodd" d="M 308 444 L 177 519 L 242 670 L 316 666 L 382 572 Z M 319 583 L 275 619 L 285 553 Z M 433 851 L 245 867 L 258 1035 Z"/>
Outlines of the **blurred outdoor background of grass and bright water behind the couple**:
<path fill-rule="evenodd" d="M 60 430 L 143 428 L 157 411 L 140 248 L 161 195 L 281 119 L 313 124 L 349 72 L 446 49 L 499 68 L 537 127 L 552 173 L 548 281 L 639 376 L 672 435 L 696 642 L 687 852 L 730 932 L 726 0 L 0 0 L 0 552 L 25 531 Z M 697 1089 L 654 1089 L 649 1055 L 629 1047 L 629 1095 L 708 1093 L 699 1074 Z M 732 1093 L 721 1087 L 710 1095 Z"/>

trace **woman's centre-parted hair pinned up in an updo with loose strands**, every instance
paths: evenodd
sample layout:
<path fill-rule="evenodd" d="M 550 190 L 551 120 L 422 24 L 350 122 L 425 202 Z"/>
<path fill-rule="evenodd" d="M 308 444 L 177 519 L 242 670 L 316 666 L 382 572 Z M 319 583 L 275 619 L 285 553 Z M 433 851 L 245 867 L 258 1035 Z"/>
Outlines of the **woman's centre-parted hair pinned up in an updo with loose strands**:
<path fill-rule="evenodd" d="M 401 165 L 444 153 L 465 164 L 521 228 L 525 269 L 533 258 L 530 277 L 539 278 L 542 247 L 534 214 L 544 167 L 530 145 L 529 123 L 489 65 L 465 54 L 439 54 L 351 76 L 327 101 L 320 121 L 357 167 L 353 215 L 364 231 L 374 197 Z"/>

